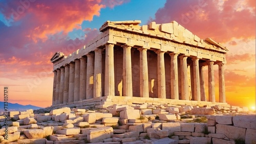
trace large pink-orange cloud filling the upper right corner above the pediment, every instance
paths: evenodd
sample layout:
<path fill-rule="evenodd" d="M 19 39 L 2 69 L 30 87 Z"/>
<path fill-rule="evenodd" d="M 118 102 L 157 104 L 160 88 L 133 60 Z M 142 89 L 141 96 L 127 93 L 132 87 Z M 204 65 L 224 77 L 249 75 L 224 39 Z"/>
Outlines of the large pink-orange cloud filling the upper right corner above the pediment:
<path fill-rule="evenodd" d="M 157 23 L 176 20 L 202 39 L 255 39 L 255 1 L 166 1 L 155 14 Z"/>

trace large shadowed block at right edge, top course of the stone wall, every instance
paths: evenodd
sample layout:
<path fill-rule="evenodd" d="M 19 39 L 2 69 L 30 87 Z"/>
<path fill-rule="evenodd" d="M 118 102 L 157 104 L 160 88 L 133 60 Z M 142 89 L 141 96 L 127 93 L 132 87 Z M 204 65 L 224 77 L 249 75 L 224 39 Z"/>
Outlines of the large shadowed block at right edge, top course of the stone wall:
<path fill-rule="evenodd" d="M 256 116 L 234 116 L 233 124 L 236 127 L 256 129 Z"/>

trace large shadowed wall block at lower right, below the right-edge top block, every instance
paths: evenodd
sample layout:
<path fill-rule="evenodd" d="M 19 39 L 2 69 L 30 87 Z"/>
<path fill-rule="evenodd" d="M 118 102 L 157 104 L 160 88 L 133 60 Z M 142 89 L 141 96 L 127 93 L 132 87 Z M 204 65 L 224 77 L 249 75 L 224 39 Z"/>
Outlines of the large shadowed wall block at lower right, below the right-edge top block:
<path fill-rule="evenodd" d="M 245 139 L 245 130 L 245 128 L 239 128 L 229 125 L 216 125 L 216 133 L 224 134 L 229 139 L 236 139 L 238 137 Z"/>

